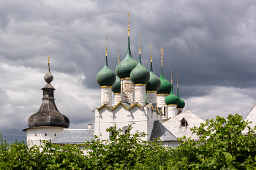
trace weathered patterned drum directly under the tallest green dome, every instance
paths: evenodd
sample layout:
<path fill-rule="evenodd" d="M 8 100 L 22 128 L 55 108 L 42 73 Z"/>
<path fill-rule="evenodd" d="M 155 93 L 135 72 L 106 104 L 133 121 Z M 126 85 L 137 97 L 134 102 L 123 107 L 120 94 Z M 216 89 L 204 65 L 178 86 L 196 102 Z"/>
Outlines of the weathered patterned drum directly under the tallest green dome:
<path fill-rule="evenodd" d="M 129 77 L 121 79 L 121 101 L 132 103 L 135 101 L 135 85 Z"/>

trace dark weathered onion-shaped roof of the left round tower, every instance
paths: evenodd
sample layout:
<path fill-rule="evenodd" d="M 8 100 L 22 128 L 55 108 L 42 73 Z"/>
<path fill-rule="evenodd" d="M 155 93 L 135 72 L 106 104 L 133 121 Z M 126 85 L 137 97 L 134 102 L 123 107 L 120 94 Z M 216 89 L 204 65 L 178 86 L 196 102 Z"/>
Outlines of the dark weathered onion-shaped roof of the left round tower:
<path fill-rule="evenodd" d="M 50 82 L 53 80 L 53 75 L 50 74 L 50 63 L 48 63 L 48 72 L 45 74 L 45 85 L 43 90 L 42 104 L 38 112 L 31 115 L 28 120 L 29 128 L 39 126 L 55 126 L 68 128 L 69 118 L 62 115 L 56 107 L 54 99 L 54 90 Z"/>

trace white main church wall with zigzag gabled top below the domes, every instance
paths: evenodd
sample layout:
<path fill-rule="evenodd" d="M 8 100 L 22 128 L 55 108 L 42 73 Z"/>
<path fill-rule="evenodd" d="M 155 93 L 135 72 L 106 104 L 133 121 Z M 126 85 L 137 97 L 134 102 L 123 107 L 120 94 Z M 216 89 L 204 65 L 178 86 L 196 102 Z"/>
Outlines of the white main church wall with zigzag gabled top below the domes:
<path fill-rule="evenodd" d="M 112 112 L 103 107 L 100 110 L 95 110 L 94 135 L 99 136 L 99 139 L 102 140 L 110 139 L 110 133 L 106 132 L 107 128 L 116 124 L 116 128 L 122 129 L 124 133 L 128 125 L 135 123 L 132 125 L 130 133 L 145 132 L 148 136 L 145 136 L 143 140 L 149 140 L 154 120 L 162 120 L 162 117 L 147 107 L 135 106 L 131 110 L 127 110 L 122 105 L 118 105 Z"/>

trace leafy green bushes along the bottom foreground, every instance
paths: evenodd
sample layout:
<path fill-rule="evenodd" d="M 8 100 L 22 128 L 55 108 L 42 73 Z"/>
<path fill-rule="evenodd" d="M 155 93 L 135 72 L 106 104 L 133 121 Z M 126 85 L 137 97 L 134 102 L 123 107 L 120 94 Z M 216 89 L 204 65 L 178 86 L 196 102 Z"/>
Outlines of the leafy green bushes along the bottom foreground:
<path fill-rule="evenodd" d="M 110 140 L 96 137 L 90 144 L 63 147 L 50 142 L 44 147 L 9 145 L 0 134 L 0 169 L 255 169 L 256 128 L 248 124 L 238 114 L 217 116 L 192 128 L 203 144 L 183 137 L 176 149 L 142 141 L 144 133 L 122 134 L 116 127 L 107 130 L 113 132 Z"/>

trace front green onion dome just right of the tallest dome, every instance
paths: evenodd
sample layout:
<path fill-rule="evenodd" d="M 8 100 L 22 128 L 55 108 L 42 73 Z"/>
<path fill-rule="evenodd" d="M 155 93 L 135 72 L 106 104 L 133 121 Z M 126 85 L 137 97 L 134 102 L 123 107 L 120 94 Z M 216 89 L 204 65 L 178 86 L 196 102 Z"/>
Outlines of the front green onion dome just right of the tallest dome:
<path fill-rule="evenodd" d="M 140 54 L 139 54 L 139 63 L 137 66 L 132 69 L 132 72 L 130 74 L 132 82 L 136 84 L 146 84 L 150 78 L 150 74 L 148 72 L 148 69 L 146 69 L 140 60 Z"/>

